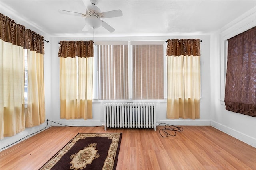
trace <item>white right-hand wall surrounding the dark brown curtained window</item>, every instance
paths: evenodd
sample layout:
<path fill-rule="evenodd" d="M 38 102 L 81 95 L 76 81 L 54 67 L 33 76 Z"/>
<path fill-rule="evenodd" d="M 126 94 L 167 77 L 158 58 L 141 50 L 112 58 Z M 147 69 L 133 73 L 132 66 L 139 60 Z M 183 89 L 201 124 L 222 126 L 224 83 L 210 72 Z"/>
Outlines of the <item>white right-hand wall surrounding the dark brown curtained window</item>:
<path fill-rule="evenodd" d="M 211 125 L 256 147 L 256 117 L 227 111 L 224 104 L 226 40 L 256 26 L 255 8 L 211 35 Z"/>

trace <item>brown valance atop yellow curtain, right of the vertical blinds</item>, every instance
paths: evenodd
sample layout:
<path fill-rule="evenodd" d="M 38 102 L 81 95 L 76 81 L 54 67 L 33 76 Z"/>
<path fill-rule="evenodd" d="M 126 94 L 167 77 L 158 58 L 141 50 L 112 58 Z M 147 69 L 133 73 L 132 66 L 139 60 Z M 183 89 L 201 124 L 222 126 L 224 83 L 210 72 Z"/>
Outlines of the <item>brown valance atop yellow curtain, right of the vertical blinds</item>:
<path fill-rule="evenodd" d="M 200 39 L 168 39 L 166 56 L 200 55 Z"/>

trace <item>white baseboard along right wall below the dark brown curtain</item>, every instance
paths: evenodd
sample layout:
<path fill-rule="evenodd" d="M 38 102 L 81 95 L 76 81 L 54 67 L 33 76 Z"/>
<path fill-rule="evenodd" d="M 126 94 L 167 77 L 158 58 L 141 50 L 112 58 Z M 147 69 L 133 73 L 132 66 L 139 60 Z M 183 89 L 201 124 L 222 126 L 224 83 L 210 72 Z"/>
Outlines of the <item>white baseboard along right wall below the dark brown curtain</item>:
<path fill-rule="evenodd" d="M 254 139 L 244 133 L 236 131 L 230 127 L 227 127 L 227 126 L 217 123 L 215 121 L 211 121 L 211 126 L 256 148 L 256 139 Z"/>

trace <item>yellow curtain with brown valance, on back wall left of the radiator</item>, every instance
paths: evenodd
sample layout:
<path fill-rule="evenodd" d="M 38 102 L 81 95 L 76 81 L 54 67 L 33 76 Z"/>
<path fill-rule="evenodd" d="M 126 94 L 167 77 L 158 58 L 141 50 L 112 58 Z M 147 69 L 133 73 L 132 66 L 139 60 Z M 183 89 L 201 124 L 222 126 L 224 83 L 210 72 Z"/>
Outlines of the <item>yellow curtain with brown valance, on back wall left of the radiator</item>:
<path fill-rule="evenodd" d="M 58 56 L 60 57 L 60 117 L 91 119 L 92 41 L 60 41 Z"/>

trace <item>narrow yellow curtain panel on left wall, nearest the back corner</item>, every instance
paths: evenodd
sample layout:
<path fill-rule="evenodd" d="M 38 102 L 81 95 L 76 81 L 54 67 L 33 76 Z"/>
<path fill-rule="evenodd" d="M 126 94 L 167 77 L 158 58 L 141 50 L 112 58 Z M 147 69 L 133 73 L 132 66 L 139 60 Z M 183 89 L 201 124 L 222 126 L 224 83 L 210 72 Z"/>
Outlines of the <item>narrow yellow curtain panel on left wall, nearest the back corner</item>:
<path fill-rule="evenodd" d="M 28 50 L 28 108 L 26 127 L 33 127 L 45 121 L 44 102 L 44 55 Z"/>

